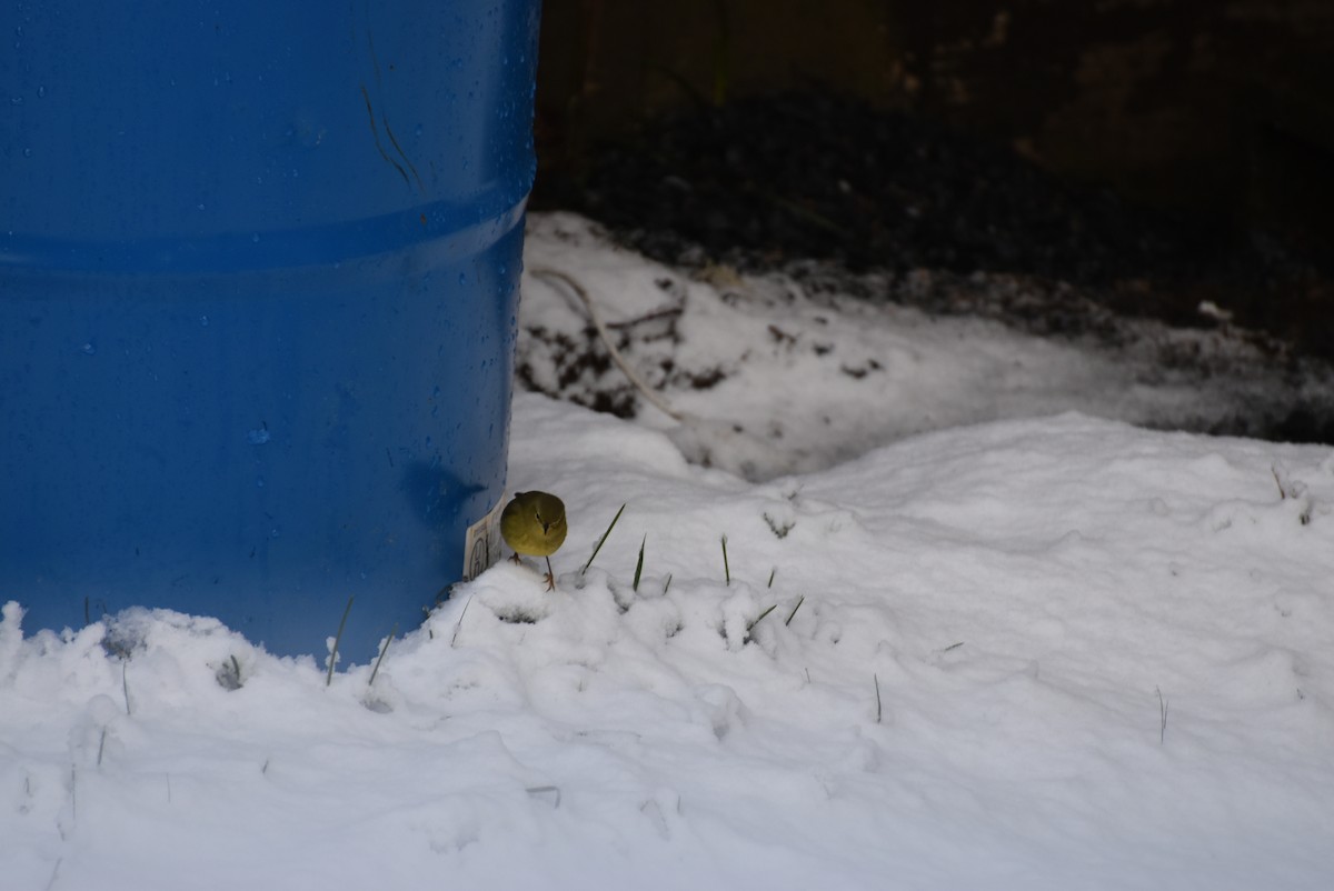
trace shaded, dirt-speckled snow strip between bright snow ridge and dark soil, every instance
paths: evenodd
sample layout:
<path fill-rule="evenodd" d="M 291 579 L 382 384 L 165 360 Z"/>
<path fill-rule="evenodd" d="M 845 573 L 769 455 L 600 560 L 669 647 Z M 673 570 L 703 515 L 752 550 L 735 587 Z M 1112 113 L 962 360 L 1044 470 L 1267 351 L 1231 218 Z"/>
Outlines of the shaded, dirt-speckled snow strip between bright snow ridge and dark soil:
<path fill-rule="evenodd" d="M 846 276 L 814 273 L 814 293 L 783 275 L 742 279 L 727 268 L 706 267 L 696 280 L 563 213 L 531 221 L 526 260 L 530 271 L 574 273 L 639 373 L 692 416 L 676 425 L 648 409 L 644 423 L 670 429 L 691 459 L 747 479 L 820 470 L 924 431 L 1061 411 L 1207 432 L 1267 428 L 1303 409 L 1334 415 L 1327 367 L 1277 359 L 1227 325 L 1169 328 L 1086 305 L 1078 312 L 1091 321 L 1081 324 L 1099 336 L 1045 339 L 976 313 L 932 316 L 823 291 L 862 287 Z M 922 269 L 872 289 L 1007 307 L 1014 317 L 1050 300 L 1007 276 Z M 520 323 L 519 377 L 530 388 L 620 413 L 643 403 L 562 283 L 530 275 Z"/>

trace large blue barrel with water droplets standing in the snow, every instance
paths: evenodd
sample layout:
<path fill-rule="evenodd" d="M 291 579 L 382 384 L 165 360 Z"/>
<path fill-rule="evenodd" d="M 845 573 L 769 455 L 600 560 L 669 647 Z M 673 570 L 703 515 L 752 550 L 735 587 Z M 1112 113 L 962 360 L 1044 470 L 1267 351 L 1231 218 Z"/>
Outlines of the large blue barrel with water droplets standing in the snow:
<path fill-rule="evenodd" d="M 538 0 L 0 8 L 0 602 L 374 655 L 486 563 Z"/>

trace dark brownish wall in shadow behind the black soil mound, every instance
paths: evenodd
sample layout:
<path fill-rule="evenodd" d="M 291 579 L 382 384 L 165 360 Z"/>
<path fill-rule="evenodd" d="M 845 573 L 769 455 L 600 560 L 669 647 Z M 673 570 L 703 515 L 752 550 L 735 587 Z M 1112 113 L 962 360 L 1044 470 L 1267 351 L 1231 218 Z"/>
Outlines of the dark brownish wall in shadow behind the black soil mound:
<path fill-rule="evenodd" d="M 1131 199 L 1334 243 L 1334 0 L 544 0 L 544 169 L 818 84 Z"/>

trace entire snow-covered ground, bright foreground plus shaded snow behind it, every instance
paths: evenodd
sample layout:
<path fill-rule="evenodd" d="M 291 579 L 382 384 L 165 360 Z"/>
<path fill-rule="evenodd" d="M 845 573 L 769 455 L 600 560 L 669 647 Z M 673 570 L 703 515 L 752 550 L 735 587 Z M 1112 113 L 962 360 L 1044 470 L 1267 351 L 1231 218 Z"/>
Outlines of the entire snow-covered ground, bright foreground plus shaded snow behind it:
<path fill-rule="evenodd" d="M 1334 450 L 1131 425 L 1250 396 L 1077 344 L 531 232 L 684 416 L 516 396 L 558 590 L 502 563 L 329 687 L 207 618 L 5 607 L 0 887 L 1331 887 Z M 634 409 L 524 288 L 524 377 Z"/>

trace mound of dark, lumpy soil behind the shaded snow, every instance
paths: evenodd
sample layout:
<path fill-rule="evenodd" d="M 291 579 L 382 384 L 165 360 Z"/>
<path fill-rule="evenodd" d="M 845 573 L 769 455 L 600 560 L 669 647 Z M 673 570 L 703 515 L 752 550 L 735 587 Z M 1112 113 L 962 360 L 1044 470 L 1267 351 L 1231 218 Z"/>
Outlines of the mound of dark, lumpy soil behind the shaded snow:
<path fill-rule="evenodd" d="M 658 123 L 591 152 L 582 169 L 544 169 L 532 207 L 584 213 L 675 265 L 1014 275 L 1050 299 L 988 315 L 1027 328 L 1089 332 L 1086 305 L 1213 325 L 1218 316 L 1199 311 L 1210 301 L 1266 332 L 1275 360 L 1334 359 L 1334 251 L 1133 207 L 1007 147 L 828 95 Z"/>

